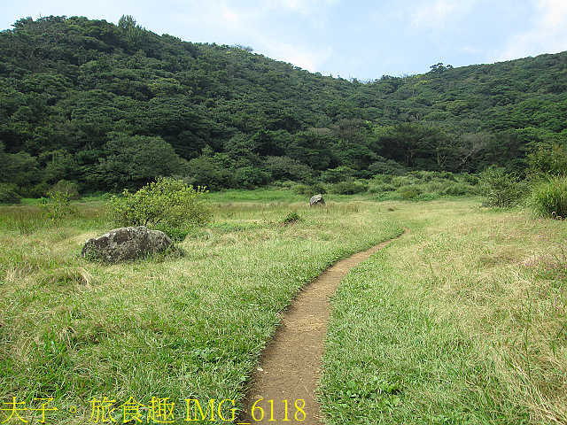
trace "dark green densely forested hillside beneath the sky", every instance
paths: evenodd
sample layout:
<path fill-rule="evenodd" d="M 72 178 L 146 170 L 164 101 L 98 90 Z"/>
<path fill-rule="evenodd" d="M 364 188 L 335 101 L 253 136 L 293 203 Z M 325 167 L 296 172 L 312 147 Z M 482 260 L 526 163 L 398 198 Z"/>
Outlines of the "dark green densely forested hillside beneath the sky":
<path fill-rule="evenodd" d="M 177 175 L 209 189 L 425 169 L 522 172 L 567 140 L 567 52 L 375 81 L 245 46 L 183 42 L 129 16 L 20 19 L 0 33 L 0 183 L 41 196 Z"/>

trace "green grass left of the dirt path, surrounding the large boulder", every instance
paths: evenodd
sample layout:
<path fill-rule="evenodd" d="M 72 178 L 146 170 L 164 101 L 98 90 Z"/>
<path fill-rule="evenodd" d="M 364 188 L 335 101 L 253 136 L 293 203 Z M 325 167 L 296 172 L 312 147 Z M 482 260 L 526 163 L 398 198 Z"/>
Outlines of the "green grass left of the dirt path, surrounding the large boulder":
<path fill-rule="evenodd" d="M 58 410 L 46 422 L 58 424 L 87 423 L 105 399 L 117 421 L 128 400 L 144 405 L 145 420 L 151 398 L 167 398 L 175 423 L 184 422 L 185 399 L 241 406 L 297 291 L 334 261 L 401 232 L 366 203 L 216 200 L 214 223 L 180 244 L 185 256 L 112 266 L 79 256 L 86 239 L 109 229 L 99 209 L 82 204 L 63 228 L 44 220 L 26 232 L 17 212 L 30 207 L 0 210 L 0 400 L 37 408 L 53 398 L 48 407 Z M 291 211 L 301 220 L 283 225 Z"/>

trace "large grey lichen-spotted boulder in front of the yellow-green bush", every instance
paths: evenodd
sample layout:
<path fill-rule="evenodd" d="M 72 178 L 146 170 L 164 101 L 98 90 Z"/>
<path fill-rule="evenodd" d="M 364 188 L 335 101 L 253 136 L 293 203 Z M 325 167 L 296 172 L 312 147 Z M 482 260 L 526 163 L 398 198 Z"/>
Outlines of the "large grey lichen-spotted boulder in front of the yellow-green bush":
<path fill-rule="evenodd" d="M 144 226 L 114 228 L 103 236 L 89 239 L 82 247 L 81 254 L 89 259 L 119 263 L 158 254 L 166 251 L 171 244 L 171 239 L 159 230 Z"/>

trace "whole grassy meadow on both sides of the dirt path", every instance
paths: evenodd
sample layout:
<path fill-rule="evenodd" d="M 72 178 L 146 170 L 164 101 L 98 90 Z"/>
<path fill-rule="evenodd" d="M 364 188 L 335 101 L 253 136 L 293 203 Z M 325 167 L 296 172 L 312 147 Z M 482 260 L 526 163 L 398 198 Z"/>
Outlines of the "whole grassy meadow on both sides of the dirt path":
<path fill-rule="evenodd" d="M 206 413 L 213 398 L 235 400 L 230 419 L 294 294 L 409 228 L 333 298 L 328 422 L 567 423 L 563 221 L 478 197 L 329 196 L 322 209 L 285 190 L 208 197 L 214 221 L 181 251 L 122 265 L 79 255 L 110 229 L 102 201 L 57 223 L 37 205 L 0 207 L 0 422 L 17 402 L 31 423 L 137 423 L 135 406 L 147 423 L 186 423 L 200 419 L 186 399 Z M 231 422 L 217 413 L 203 422 Z"/>

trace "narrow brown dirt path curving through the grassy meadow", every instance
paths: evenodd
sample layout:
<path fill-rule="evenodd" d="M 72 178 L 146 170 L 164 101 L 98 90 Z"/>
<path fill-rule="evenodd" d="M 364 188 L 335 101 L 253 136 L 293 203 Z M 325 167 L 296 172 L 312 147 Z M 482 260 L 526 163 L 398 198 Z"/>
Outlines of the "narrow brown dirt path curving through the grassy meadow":
<path fill-rule="evenodd" d="M 299 292 L 283 313 L 282 324 L 252 375 L 245 399 L 245 412 L 237 424 L 322 424 L 315 390 L 321 372 L 330 296 L 352 267 L 392 240 L 338 261 Z M 256 405 L 252 412 L 254 403 Z"/>

